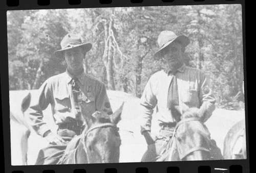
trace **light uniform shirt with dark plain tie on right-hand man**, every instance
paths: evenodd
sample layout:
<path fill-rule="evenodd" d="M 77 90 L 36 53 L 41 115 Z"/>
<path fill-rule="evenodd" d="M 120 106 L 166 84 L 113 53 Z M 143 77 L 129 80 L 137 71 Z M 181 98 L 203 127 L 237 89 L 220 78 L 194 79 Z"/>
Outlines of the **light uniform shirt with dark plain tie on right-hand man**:
<path fill-rule="evenodd" d="M 212 95 L 209 81 L 204 73 L 199 69 L 183 64 L 178 69 L 176 78 L 180 111 L 184 112 L 183 104 L 189 108 L 203 106 L 206 108 L 204 119 L 208 119 L 215 110 L 215 97 Z M 167 108 L 168 90 L 172 79 L 172 73 L 168 74 L 161 70 L 148 80 L 140 99 L 141 133 L 151 131 L 151 120 L 155 107 L 159 123 L 176 121 Z"/>

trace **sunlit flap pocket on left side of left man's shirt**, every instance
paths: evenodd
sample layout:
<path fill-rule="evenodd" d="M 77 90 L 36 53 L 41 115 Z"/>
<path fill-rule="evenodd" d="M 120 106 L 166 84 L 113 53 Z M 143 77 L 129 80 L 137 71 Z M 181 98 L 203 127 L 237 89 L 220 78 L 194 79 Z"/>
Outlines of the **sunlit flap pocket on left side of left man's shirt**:
<path fill-rule="evenodd" d="M 55 95 L 55 109 L 58 112 L 69 112 L 71 109 L 70 95 L 68 93 L 57 93 Z"/>

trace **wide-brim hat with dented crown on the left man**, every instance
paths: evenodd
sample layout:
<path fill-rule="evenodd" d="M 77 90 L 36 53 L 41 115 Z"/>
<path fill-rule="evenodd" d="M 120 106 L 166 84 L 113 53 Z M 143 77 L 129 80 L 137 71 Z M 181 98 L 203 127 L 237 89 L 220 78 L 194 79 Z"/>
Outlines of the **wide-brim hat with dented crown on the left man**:
<path fill-rule="evenodd" d="M 71 48 L 81 47 L 84 53 L 90 51 L 92 48 L 91 43 L 82 43 L 81 38 L 74 34 L 67 34 L 61 40 L 60 46 L 61 46 L 61 50 L 54 52 L 54 55 L 59 59 L 63 59 L 64 51 L 69 50 Z"/>

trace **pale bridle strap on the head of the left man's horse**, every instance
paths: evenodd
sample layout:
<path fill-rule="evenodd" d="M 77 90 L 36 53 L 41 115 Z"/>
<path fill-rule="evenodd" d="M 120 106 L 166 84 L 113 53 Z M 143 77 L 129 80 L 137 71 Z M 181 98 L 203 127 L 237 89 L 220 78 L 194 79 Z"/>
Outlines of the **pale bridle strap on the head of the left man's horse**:
<path fill-rule="evenodd" d="M 81 133 L 81 142 L 82 142 L 82 145 L 83 145 L 83 149 L 84 151 L 86 152 L 86 156 L 87 156 L 87 160 L 89 162 L 89 159 L 88 159 L 88 150 L 87 150 L 87 147 L 86 147 L 86 138 L 87 138 L 87 135 L 96 130 L 96 129 L 99 129 L 99 128 L 106 128 L 106 127 L 110 127 L 110 128 L 115 128 L 116 130 L 119 130 L 119 128 L 116 126 L 116 124 L 114 123 L 111 123 L 111 122 L 106 122 L 106 123 L 100 123 L 100 124 L 97 124 L 95 126 L 92 126 L 91 128 L 89 128 L 88 130 L 87 129 L 84 129 Z M 103 160 L 103 159 L 102 159 Z M 74 162 L 76 163 L 76 159 L 74 160 Z"/>

